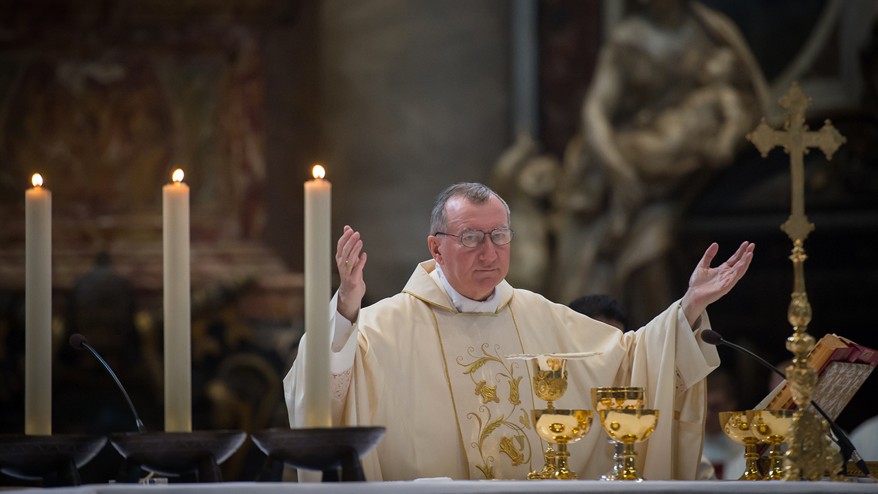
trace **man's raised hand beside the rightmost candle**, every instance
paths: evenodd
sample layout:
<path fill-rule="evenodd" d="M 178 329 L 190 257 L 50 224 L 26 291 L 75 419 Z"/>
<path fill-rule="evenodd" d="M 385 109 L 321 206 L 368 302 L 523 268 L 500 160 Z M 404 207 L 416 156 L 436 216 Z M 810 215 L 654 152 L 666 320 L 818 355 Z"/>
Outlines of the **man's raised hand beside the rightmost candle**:
<path fill-rule="evenodd" d="M 363 266 L 366 265 L 366 253 L 362 254 L 363 241 L 360 240 L 360 232 L 354 231 L 348 225 L 344 226 L 344 233 L 338 239 L 338 250 L 335 251 L 335 265 L 342 279 L 338 287 L 338 313 L 356 323 L 356 316 L 360 312 L 360 303 L 366 294 L 366 283 L 363 281 Z"/>

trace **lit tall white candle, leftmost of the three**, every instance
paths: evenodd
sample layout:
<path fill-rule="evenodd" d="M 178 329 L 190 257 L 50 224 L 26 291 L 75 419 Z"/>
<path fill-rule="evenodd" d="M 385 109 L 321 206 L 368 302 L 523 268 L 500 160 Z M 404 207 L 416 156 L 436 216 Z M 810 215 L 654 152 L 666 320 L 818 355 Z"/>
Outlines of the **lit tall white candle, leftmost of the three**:
<path fill-rule="evenodd" d="M 25 434 L 52 433 L 52 193 L 25 191 Z"/>

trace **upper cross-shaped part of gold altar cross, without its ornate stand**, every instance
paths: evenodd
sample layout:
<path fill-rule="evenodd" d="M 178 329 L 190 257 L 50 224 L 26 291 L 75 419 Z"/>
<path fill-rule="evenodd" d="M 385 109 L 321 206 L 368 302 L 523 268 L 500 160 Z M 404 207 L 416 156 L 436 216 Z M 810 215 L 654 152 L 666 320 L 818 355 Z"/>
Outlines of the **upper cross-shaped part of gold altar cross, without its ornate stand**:
<path fill-rule="evenodd" d="M 783 124 L 784 130 L 774 130 L 768 127 L 765 118 L 750 134 L 747 140 L 752 142 L 756 149 L 762 153 L 762 157 L 768 156 L 768 151 L 775 146 L 783 146 L 783 150 L 789 155 L 789 167 L 793 183 L 793 206 L 792 212 L 781 225 L 781 229 L 787 232 L 790 240 L 805 240 L 805 237 L 814 230 L 814 223 L 808 222 L 805 215 L 805 172 L 804 155 L 810 148 L 820 148 L 831 160 L 832 155 L 844 144 L 846 138 L 832 127 L 827 119 L 824 126 L 817 132 L 812 132 L 805 125 L 805 108 L 811 104 L 811 98 L 805 96 L 799 84 L 793 83 L 788 93 L 781 98 L 781 106 L 787 109 L 787 120 Z"/>

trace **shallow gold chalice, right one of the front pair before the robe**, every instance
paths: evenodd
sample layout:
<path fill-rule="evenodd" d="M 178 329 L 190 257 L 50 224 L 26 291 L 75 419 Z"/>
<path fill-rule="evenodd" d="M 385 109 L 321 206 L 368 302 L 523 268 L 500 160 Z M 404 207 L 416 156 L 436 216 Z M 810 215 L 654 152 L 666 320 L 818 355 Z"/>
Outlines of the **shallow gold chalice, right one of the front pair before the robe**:
<path fill-rule="evenodd" d="M 649 439 L 659 422 L 659 410 L 644 409 L 608 409 L 601 414 L 601 425 L 609 437 L 623 444 L 623 469 L 616 480 L 633 480 L 640 482 L 643 477 L 637 473 L 634 460 L 637 452 L 635 443 Z"/>

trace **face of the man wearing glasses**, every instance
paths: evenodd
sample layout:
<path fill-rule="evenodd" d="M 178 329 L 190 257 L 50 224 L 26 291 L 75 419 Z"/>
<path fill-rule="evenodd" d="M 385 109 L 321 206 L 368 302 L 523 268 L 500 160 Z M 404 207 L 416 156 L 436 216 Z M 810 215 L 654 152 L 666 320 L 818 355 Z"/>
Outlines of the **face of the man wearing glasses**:
<path fill-rule="evenodd" d="M 472 204 L 453 197 L 445 204 L 448 226 L 445 233 L 462 235 L 470 230 L 486 234 L 509 228 L 506 207 L 495 196 L 483 204 Z M 429 236 L 430 253 L 442 266 L 445 278 L 459 294 L 472 300 L 485 300 L 509 272 L 509 243 L 494 245 L 488 236 L 478 247 L 466 247 L 457 236 Z"/>

